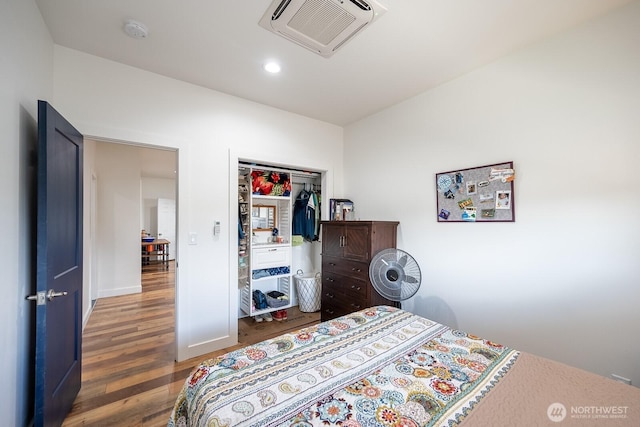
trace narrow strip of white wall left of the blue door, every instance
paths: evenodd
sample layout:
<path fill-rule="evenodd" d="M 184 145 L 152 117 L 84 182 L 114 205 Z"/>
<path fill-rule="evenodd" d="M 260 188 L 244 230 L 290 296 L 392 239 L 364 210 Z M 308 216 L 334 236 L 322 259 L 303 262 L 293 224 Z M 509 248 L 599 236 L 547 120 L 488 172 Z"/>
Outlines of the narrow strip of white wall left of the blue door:
<path fill-rule="evenodd" d="M 53 42 L 33 1 L 0 2 L 0 414 L 4 425 L 30 419 L 35 292 L 37 101 L 53 93 Z"/>

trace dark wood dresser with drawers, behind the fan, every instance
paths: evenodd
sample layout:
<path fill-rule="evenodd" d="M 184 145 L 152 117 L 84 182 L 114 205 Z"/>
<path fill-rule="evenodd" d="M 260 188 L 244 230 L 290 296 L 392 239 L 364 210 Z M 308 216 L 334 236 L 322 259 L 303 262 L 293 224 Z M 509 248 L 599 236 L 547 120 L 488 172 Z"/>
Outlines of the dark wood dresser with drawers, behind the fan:
<path fill-rule="evenodd" d="M 395 248 L 397 221 L 322 221 L 322 306 L 324 322 L 375 305 L 383 298 L 369 281 L 371 258 Z"/>

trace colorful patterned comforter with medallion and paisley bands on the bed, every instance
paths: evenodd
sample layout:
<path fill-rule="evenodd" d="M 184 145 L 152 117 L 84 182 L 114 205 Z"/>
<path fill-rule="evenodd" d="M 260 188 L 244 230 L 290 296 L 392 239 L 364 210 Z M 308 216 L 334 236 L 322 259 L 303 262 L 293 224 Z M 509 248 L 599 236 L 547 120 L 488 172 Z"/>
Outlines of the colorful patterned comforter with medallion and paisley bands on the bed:
<path fill-rule="evenodd" d="M 451 426 L 517 351 L 374 307 L 203 362 L 169 426 Z"/>

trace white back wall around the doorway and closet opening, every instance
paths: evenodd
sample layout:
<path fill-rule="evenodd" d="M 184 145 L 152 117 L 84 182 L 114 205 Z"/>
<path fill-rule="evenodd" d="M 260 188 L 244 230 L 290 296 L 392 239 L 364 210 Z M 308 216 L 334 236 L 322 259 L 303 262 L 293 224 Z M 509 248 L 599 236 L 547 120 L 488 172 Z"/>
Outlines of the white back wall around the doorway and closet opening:
<path fill-rule="evenodd" d="M 237 159 L 330 170 L 332 197 L 342 190 L 342 128 L 60 46 L 54 88 L 58 110 L 85 135 L 177 149 L 178 358 L 235 343 Z"/>

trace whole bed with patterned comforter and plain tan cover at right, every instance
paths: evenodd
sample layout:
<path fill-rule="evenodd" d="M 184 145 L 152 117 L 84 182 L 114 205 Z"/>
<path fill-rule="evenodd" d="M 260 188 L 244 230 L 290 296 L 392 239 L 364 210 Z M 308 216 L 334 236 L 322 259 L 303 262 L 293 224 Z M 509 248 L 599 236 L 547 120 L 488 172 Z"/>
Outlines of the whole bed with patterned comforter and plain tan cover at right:
<path fill-rule="evenodd" d="M 373 307 L 206 360 L 169 426 L 640 425 L 640 389 Z"/>

